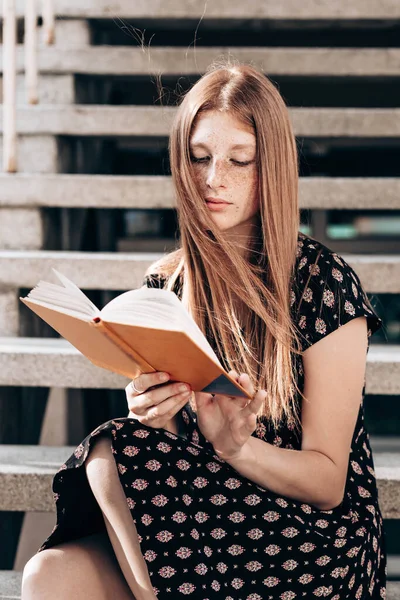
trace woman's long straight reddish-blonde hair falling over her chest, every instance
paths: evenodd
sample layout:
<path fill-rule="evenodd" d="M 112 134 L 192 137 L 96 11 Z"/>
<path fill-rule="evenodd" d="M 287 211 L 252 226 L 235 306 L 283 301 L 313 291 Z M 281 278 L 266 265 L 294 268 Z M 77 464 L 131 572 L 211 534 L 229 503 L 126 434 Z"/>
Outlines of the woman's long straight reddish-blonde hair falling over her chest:
<path fill-rule="evenodd" d="M 250 259 L 214 224 L 195 184 L 189 140 L 196 117 L 207 110 L 228 111 L 256 136 L 259 236 L 250 240 Z M 300 226 L 298 157 L 287 107 L 253 66 L 213 63 L 177 109 L 169 153 L 180 247 L 147 274 L 165 277 L 169 290 L 180 281 L 182 302 L 211 335 L 223 366 L 247 373 L 255 389 L 266 390 L 259 417 L 275 427 L 284 416 L 299 425 L 295 398 L 301 392 L 291 353 L 299 354 L 300 344 L 290 315 Z"/>

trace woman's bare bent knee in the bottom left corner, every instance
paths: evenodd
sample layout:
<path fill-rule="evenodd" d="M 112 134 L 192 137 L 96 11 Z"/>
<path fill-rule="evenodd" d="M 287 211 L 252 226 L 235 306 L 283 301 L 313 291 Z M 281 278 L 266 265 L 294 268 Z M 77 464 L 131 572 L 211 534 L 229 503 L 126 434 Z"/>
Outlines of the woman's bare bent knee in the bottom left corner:
<path fill-rule="evenodd" d="M 135 600 L 107 533 L 59 544 L 25 565 L 22 600 Z"/>

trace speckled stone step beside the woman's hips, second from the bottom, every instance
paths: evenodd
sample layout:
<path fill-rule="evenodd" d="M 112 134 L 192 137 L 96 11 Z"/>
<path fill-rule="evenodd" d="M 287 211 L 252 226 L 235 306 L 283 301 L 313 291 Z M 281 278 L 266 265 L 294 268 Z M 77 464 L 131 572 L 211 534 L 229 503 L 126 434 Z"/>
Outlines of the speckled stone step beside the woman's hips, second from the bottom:
<path fill-rule="evenodd" d="M 379 504 L 386 519 L 400 518 L 400 452 L 374 451 Z M 0 510 L 54 511 L 54 473 L 75 447 L 0 445 Z"/>

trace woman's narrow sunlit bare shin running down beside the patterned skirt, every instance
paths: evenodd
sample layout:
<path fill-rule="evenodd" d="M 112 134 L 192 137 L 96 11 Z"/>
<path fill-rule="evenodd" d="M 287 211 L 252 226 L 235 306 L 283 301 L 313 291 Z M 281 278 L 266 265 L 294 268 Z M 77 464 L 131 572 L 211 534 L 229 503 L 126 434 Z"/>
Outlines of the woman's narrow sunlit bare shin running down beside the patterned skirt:
<path fill-rule="evenodd" d="M 128 586 L 137 600 L 157 600 L 135 524 L 119 480 L 108 437 L 100 437 L 85 462 L 89 485 Z"/>

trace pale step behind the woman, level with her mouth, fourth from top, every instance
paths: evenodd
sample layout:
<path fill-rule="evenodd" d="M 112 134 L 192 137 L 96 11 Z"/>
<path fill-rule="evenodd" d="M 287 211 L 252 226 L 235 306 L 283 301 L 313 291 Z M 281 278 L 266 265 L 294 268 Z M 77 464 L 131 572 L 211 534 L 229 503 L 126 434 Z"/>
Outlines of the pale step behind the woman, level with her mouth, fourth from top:
<path fill-rule="evenodd" d="M 400 210 L 400 178 L 300 177 L 300 208 Z M 175 208 L 171 177 L 0 173 L 0 207 Z"/>

